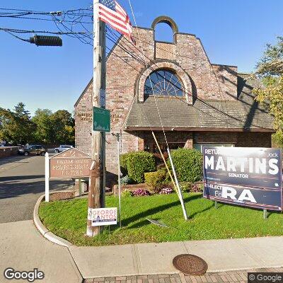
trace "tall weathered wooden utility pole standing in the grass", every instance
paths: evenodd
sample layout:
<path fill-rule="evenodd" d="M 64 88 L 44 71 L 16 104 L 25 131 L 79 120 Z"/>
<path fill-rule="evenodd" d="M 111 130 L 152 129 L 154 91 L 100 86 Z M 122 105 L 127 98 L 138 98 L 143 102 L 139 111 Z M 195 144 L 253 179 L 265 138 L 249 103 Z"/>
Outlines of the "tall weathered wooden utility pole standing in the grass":
<path fill-rule="evenodd" d="M 99 0 L 93 0 L 93 107 L 105 108 L 105 23 L 98 18 Z M 101 99 L 102 98 L 102 99 Z M 92 131 L 92 165 L 88 187 L 88 216 L 93 208 L 105 205 L 105 132 Z M 88 217 L 86 235 L 100 233 L 100 226 L 92 226 Z"/>

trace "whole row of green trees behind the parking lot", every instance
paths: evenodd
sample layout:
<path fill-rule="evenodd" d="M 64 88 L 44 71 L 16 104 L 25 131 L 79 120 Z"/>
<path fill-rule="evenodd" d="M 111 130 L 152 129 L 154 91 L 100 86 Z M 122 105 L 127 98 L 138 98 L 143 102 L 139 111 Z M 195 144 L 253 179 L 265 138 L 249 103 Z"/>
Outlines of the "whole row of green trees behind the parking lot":
<path fill-rule="evenodd" d="M 14 110 L 0 108 L 0 139 L 12 144 L 74 144 L 74 118 L 67 110 L 37 109 L 35 115 L 18 103 Z"/>

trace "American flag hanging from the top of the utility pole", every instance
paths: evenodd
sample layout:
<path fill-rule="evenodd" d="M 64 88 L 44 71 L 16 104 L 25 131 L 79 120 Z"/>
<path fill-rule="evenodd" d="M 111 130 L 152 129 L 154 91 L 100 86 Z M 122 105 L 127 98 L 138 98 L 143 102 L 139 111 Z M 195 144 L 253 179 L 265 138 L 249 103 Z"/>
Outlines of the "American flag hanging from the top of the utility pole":
<path fill-rule="evenodd" d="M 99 0 L 98 18 L 108 23 L 115 30 L 129 39 L 135 44 L 132 37 L 132 24 L 126 11 L 115 0 Z"/>

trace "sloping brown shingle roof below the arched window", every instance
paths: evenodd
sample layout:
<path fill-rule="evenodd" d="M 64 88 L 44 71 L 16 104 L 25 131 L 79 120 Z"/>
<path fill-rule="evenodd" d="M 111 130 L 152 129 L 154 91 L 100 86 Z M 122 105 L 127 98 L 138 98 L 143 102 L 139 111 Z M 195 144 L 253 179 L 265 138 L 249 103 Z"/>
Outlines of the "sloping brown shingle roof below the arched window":
<path fill-rule="evenodd" d="M 163 127 L 189 129 L 243 129 L 272 132 L 272 116 L 255 101 L 253 87 L 257 81 L 246 80 L 248 75 L 238 75 L 238 100 L 205 100 L 221 114 L 196 100 L 187 105 L 178 98 L 149 96 L 144 103 L 134 99 L 124 127 Z M 156 104 L 158 108 L 156 107 Z M 161 121 L 158 116 L 161 116 Z"/>

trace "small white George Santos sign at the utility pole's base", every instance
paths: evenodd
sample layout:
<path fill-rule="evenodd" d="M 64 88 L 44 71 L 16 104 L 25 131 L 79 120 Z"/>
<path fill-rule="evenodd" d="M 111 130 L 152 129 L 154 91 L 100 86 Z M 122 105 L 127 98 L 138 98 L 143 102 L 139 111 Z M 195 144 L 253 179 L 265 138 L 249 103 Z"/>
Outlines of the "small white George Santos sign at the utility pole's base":
<path fill-rule="evenodd" d="M 117 207 L 88 209 L 88 219 L 91 226 L 105 226 L 117 224 Z"/>

